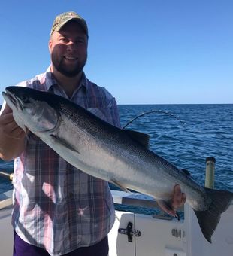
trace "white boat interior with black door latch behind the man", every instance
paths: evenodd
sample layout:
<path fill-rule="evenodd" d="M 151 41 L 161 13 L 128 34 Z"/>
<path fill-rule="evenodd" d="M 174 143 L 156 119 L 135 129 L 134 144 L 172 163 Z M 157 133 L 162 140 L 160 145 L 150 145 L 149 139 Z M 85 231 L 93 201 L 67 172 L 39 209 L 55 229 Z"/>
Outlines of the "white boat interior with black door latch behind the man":
<path fill-rule="evenodd" d="M 116 206 L 158 208 L 156 201 L 138 193 L 111 190 Z M 0 251 L 11 256 L 13 231 L 11 227 L 12 190 L 0 194 Z M 192 208 L 185 204 L 179 211 L 184 218 L 178 221 L 163 212 L 147 215 L 116 210 L 116 221 L 110 230 L 109 256 L 232 256 L 233 205 L 222 214 L 219 225 L 207 242 L 201 233 Z"/>

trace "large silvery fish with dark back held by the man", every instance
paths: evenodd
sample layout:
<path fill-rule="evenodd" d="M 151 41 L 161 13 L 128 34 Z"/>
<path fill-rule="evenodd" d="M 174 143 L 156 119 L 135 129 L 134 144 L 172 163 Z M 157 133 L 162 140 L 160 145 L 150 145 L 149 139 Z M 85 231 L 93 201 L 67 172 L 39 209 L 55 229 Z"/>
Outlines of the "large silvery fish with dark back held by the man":
<path fill-rule="evenodd" d="M 69 99 L 28 87 L 2 92 L 14 120 L 53 148 L 64 160 L 89 175 L 123 190 L 147 194 L 166 205 L 180 184 L 208 242 L 222 212 L 233 199 L 228 190 L 213 190 L 148 147 L 148 136 L 123 130 L 96 117 Z"/>

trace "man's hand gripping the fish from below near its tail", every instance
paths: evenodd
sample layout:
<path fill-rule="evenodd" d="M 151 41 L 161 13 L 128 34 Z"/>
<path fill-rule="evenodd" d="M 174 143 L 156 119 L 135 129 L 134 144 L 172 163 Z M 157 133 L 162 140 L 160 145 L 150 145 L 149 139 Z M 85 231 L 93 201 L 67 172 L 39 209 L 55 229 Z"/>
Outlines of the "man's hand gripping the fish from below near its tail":
<path fill-rule="evenodd" d="M 173 196 L 171 201 L 166 203 L 165 201 L 158 201 L 159 206 L 165 212 L 170 215 L 177 216 L 177 209 L 184 205 L 186 201 L 186 195 L 181 192 L 180 185 L 176 184 L 173 190 Z"/>

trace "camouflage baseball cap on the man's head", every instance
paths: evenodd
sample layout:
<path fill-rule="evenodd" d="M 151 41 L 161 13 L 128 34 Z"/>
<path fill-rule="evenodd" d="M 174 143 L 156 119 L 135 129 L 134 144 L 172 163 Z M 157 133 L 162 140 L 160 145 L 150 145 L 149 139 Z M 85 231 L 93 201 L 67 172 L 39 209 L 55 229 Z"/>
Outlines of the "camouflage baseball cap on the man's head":
<path fill-rule="evenodd" d="M 70 20 L 76 20 L 83 28 L 83 32 L 85 32 L 85 34 L 88 36 L 86 21 L 82 17 L 80 17 L 80 15 L 76 14 L 74 11 L 68 11 L 56 16 L 55 20 L 53 21 L 53 26 L 50 35 L 52 35 L 55 31 L 59 31 L 62 28 L 62 26 L 64 26 Z"/>

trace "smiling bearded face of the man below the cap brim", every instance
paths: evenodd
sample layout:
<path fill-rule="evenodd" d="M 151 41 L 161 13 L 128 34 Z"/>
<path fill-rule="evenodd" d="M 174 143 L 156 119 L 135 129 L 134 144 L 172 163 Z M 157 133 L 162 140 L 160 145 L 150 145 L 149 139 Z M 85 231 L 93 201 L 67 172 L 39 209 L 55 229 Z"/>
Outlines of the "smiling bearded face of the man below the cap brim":
<path fill-rule="evenodd" d="M 78 75 L 86 64 L 87 44 L 86 34 L 74 20 L 53 32 L 49 41 L 53 67 L 67 77 Z"/>

